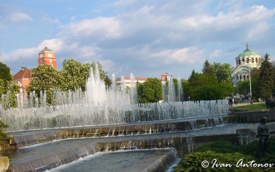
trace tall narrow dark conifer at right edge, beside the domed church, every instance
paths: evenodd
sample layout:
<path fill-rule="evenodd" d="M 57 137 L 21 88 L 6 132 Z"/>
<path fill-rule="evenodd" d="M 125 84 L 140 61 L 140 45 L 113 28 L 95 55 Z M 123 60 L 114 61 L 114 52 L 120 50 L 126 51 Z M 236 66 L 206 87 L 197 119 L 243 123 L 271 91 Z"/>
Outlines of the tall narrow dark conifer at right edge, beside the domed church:
<path fill-rule="evenodd" d="M 265 55 L 265 59 L 260 67 L 260 78 L 259 78 L 259 96 L 261 98 L 271 97 L 273 95 L 272 90 L 274 87 L 274 71 L 272 63 L 269 61 L 269 54 Z"/>

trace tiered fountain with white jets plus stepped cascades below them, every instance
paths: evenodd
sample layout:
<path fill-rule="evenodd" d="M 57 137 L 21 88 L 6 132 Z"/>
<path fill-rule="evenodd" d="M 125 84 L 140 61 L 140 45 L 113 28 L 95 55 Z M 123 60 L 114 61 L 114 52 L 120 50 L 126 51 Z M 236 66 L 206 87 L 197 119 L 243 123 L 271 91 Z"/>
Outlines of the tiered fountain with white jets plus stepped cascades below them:
<path fill-rule="evenodd" d="M 178 101 L 182 88 L 178 87 L 176 94 L 172 82 L 166 87 L 171 95 L 169 101 L 137 104 L 132 73 L 130 78 L 129 90 L 124 89 L 125 82 L 116 87 L 114 75 L 113 84 L 106 88 L 96 66 L 87 80 L 85 92 L 56 90 L 53 105 L 46 104 L 47 94 L 43 91 L 39 99 L 34 92 L 29 98 L 22 99 L 21 93 L 17 108 L 4 109 L 2 104 L 1 118 L 10 126 L 5 131 L 13 135 L 9 142 L 19 148 L 16 153 L 8 153 L 11 156 L 10 171 L 45 171 L 99 151 L 179 148 L 184 144 L 187 151 L 184 146 L 177 150 L 182 155 L 193 149 L 196 139 L 181 132 L 222 125 L 222 116 L 228 113 L 227 102 L 223 100 Z M 171 133 L 180 133 L 181 138 L 174 138 L 177 134 L 171 136 Z M 37 146 L 28 147 L 35 144 Z M 173 150 L 162 154 L 160 159 L 165 163 L 152 162 L 147 171 L 160 166 L 167 168 L 174 162 L 176 154 Z M 0 155 L 7 154 L 0 152 Z"/>

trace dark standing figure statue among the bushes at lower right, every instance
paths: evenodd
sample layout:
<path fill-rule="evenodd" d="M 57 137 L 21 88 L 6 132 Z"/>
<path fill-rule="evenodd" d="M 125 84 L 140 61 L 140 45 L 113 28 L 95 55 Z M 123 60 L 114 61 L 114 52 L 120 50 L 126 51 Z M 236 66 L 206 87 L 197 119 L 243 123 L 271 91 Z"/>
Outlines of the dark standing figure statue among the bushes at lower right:
<path fill-rule="evenodd" d="M 266 125 L 267 120 L 268 120 L 267 117 L 262 117 L 261 124 L 258 127 L 258 135 L 260 136 L 260 140 L 259 140 L 260 158 L 266 157 L 267 150 L 268 150 L 268 144 L 269 144 L 268 137 L 270 136 L 270 133 L 269 133 L 269 128 Z"/>

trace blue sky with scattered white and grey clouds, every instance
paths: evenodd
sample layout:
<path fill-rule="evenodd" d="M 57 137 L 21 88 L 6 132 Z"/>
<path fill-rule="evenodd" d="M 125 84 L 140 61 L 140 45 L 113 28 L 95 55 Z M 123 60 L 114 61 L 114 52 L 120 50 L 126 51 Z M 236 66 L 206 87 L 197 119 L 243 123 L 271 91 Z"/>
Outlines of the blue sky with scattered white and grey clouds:
<path fill-rule="evenodd" d="M 38 53 L 99 61 L 116 77 L 187 79 L 205 60 L 236 66 L 246 49 L 275 60 L 275 0 L 4 0 L 0 61 L 15 74 Z"/>

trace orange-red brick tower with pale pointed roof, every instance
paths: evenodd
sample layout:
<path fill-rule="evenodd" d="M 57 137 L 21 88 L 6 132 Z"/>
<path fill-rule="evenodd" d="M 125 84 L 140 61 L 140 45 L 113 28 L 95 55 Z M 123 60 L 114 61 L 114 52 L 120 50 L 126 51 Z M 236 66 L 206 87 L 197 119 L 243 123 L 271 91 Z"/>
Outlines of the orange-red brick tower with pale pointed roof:
<path fill-rule="evenodd" d="M 45 47 L 44 50 L 38 54 L 38 65 L 49 64 L 56 69 L 55 52 Z"/>

